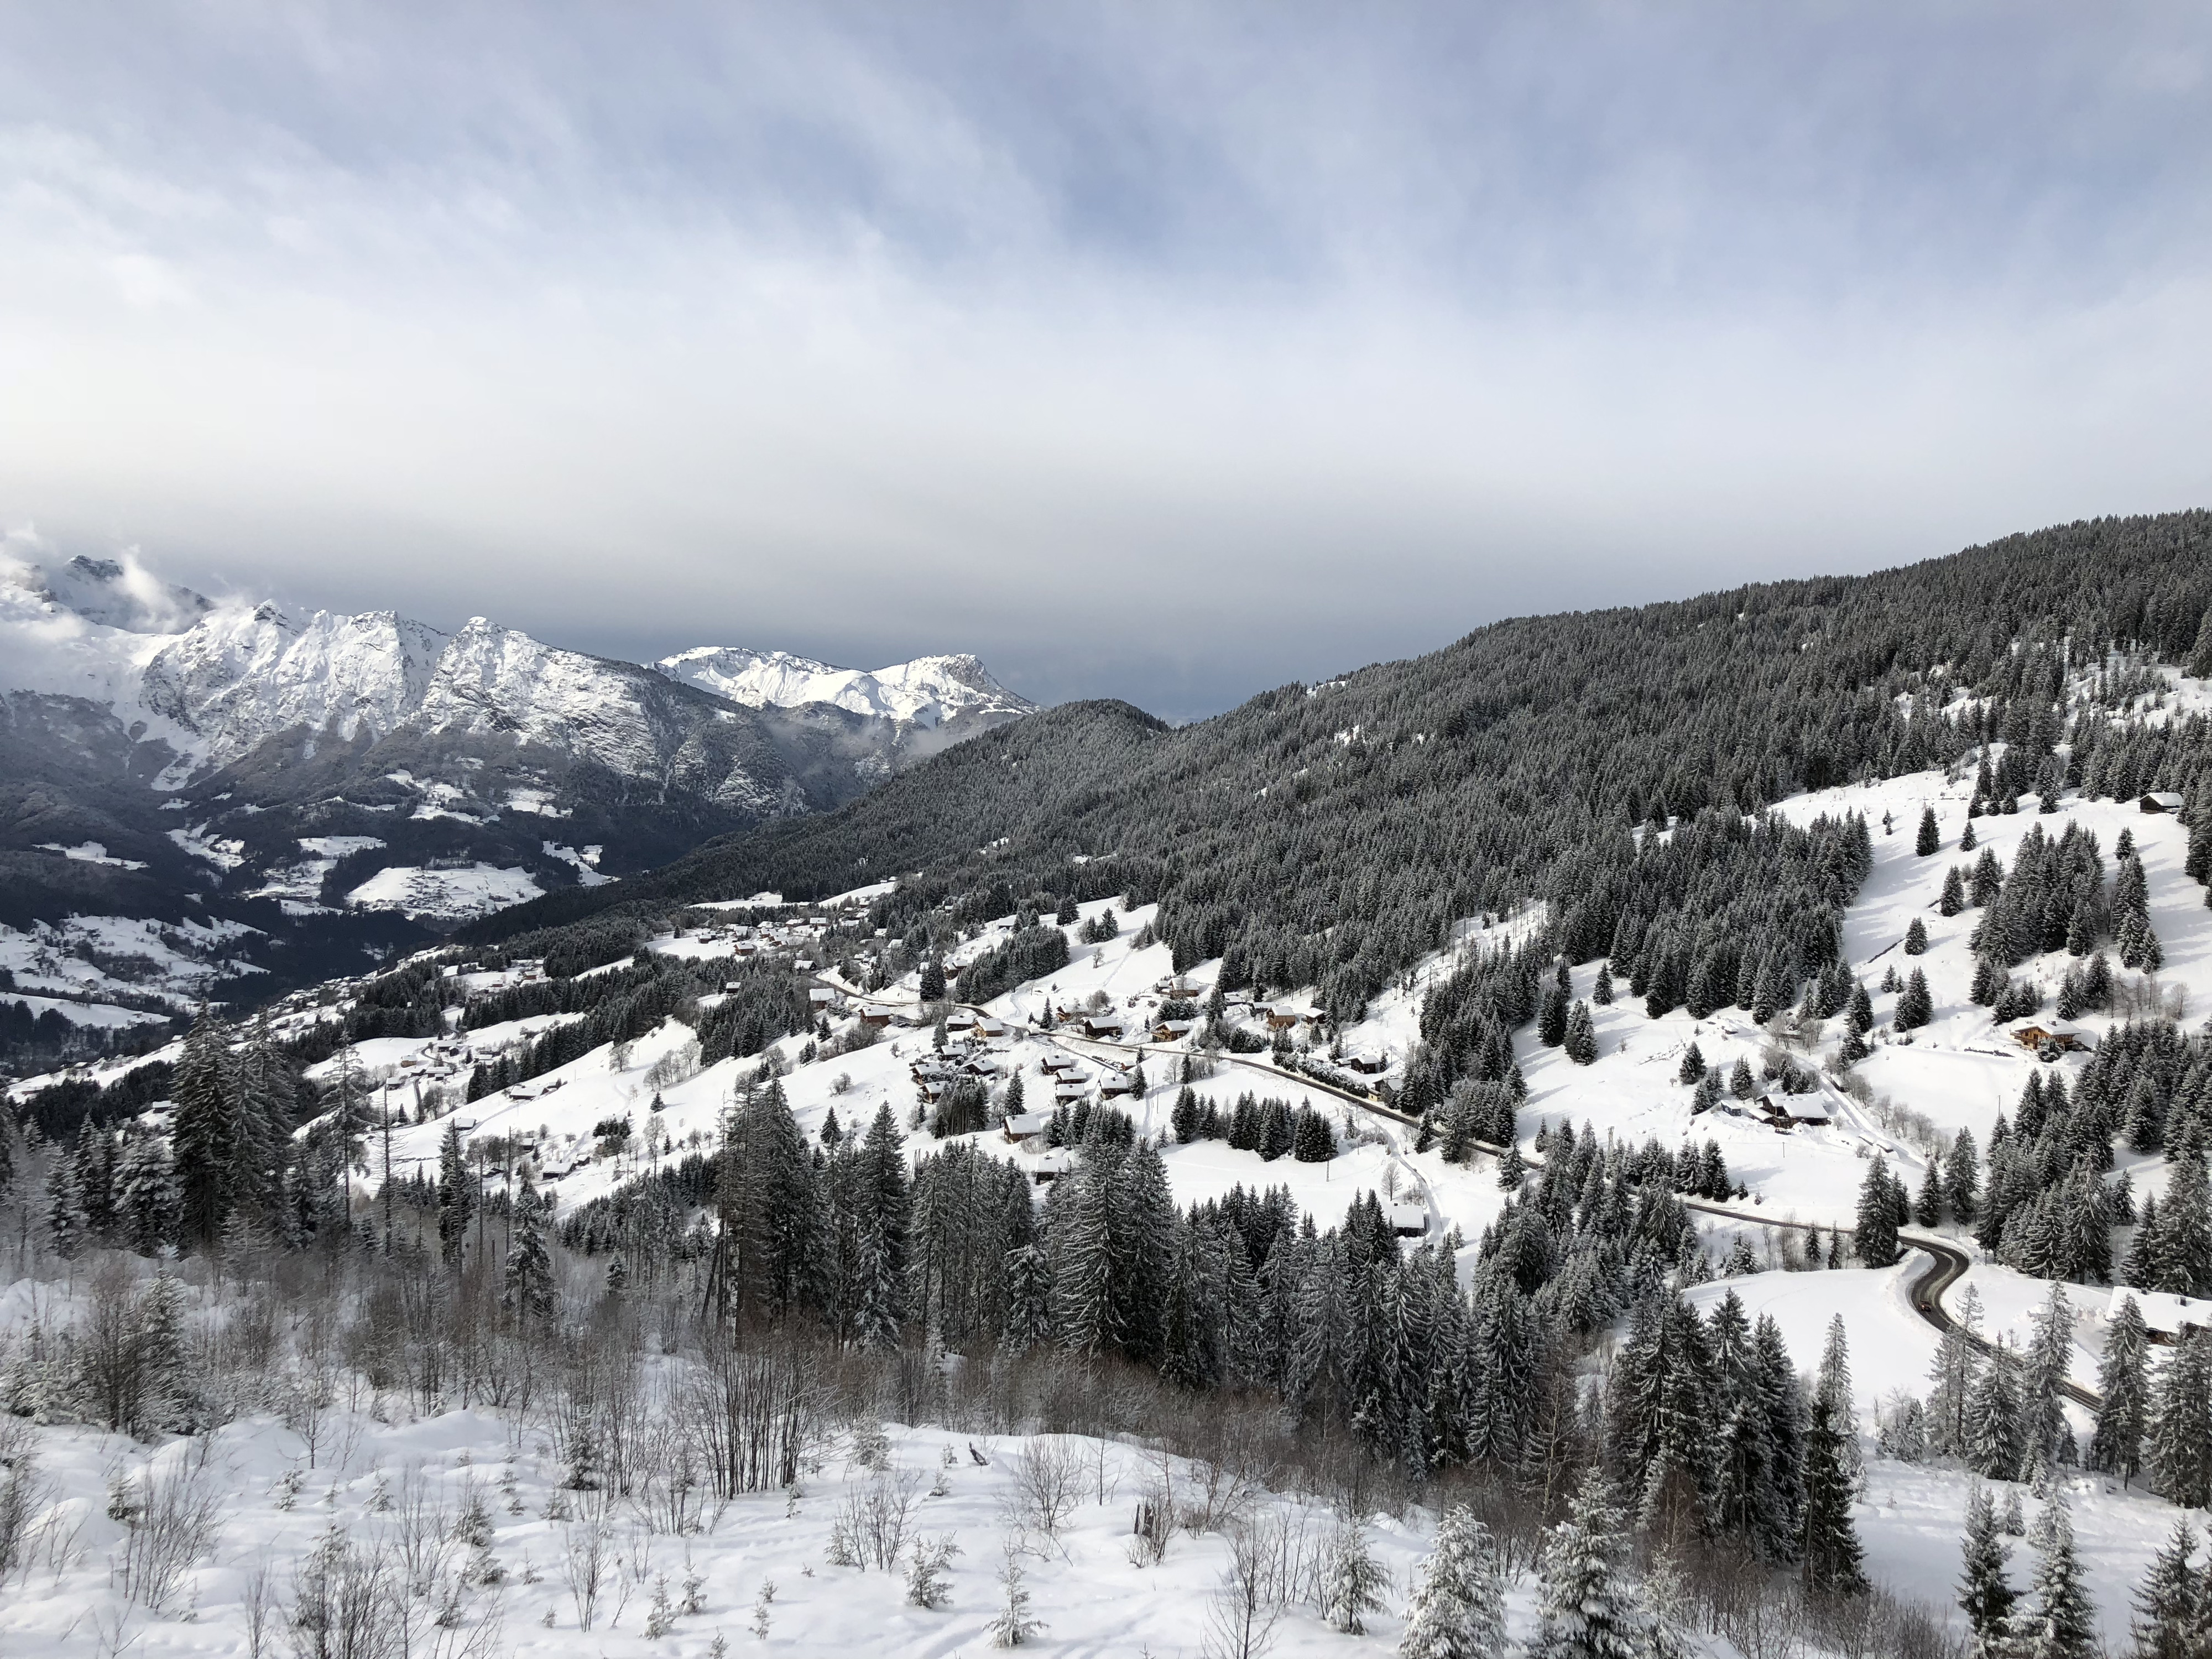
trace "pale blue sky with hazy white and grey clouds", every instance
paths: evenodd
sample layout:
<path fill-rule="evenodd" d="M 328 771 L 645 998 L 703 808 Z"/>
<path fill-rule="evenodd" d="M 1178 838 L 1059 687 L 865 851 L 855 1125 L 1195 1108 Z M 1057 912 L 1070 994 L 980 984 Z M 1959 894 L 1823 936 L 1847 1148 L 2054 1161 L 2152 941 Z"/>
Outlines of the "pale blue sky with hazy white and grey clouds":
<path fill-rule="evenodd" d="M 1194 719 L 2212 504 L 2201 4 L 0 4 L 0 529 Z"/>

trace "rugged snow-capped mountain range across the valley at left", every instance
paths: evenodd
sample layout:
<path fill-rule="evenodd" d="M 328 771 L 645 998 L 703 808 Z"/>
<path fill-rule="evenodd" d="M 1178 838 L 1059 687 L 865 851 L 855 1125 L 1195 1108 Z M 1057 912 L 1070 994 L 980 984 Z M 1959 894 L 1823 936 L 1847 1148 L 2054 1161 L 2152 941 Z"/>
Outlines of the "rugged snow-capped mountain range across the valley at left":
<path fill-rule="evenodd" d="M 1026 712 L 964 655 L 648 666 L 0 555 L 0 925 L 221 920 L 232 969 L 292 982 L 834 810 Z"/>

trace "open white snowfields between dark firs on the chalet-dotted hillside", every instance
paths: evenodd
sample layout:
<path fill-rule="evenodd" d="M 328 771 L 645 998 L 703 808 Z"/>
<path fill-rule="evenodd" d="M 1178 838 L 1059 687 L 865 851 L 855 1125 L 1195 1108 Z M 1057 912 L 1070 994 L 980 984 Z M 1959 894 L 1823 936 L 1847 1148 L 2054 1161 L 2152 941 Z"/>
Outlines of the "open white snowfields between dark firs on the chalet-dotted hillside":
<path fill-rule="evenodd" d="M 1843 1318 L 1871 1460 L 1856 1513 L 1858 1528 L 1871 1566 L 1887 1584 L 1933 1601 L 1949 1597 L 1955 1553 L 1949 1546 L 1931 1548 L 1931 1542 L 1955 1535 L 1971 1478 L 1955 1467 L 1891 1464 L 1871 1458 L 1871 1436 L 1882 1413 L 1905 1394 L 1920 1396 L 1929 1387 L 1938 1332 L 1913 1307 L 1909 1294 L 1913 1281 L 1927 1272 L 1929 1259 L 1907 1254 L 1898 1267 L 1801 1272 L 1798 1234 L 1790 1223 L 1847 1230 L 1856 1219 L 1871 1157 L 1882 1157 L 1907 1186 L 1913 1186 L 1929 1150 L 1947 1146 L 1953 1130 L 1969 1128 L 1986 1144 L 1997 1113 L 2015 1106 L 2031 1075 L 2073 1077 L 2086 1064 L 2079 1053 L 2055 1062 L 2037 1060 L 2011 1035 L 2020 1020 L 1995 1020 L 1989 1009 L 1966 998 L 1971 956 L 1964 938 L 1975 916 L 1942 918 L 1936 898 L 1944 874 L 1958 860 L 1955 843 L 1966 823 L 1969 792 L 1969 785 L 1947 781 L 1942 774 L 1911 774 L 1783 803 L 1785 816 L 1805 823 L 1838 812 L 1869 818 L 1874 872 L 1847 914 L 1845 951 L 1869 991 L 1891 962 L 1920 967 L 1933 991 L 1933 1020 L 1911 1033 L 1891 1031 L 1887 1024 L 1896 1011 L 1896 993 L 1876 993 L 1878 1024 L 1871 1055 L 1854 1073 L 1838 1077 L 1829 1064 L 1843 1040 L 1840 1020 L 1825 1026 L 1796 1020 L 1756 1026 L 1741 1009 L 1703 1020 L 1686 1011 L 1650 1020 L 1641 1002 L 1626 995 L 1626 987 L 1610 1006 L 1595 1009 L 1595 1062 L 1577 1066 L 1564 1051 L 1546 1048 L 1528 1033 L 1517 1044 L 1517 1060 L 1528 1082 L 1520 1135 L 1522 1152 L 1531 1161 L 1537 1159 L 1537 1135 L 1564 1124 L 1593 1126 L 1599 1135 L 1626 1144 L 1657 1137 L 1670 1148 L 1697 1150 L 1705 1141 L 1719 1146 L 1732 1179 L 1745 1192 L 1732 1206 L 1714 1206 L 1699 1217 L 1708 1265 L 1719 1270 L 1741 1239 L 1763 1270 L 1701 1287 L 1694 1301 L 1710 1307 L 1725 1287 L 1734 1287 L 1752 1316 L 1772 1312 L 1778 1318 L 1796 1363 L 1805 1369 L 1818 1358 L 1829 1321 Z M 1936 856 L 1920 856 L 1913 847 L 1924 803 L 1936 807 L 1944 843 Z M 2139 987 L 2135 995 L 2146 1000 L 2146 1006 L 2159 1000 L 2163 1006 L 2185 1006 L 2212 987 L 2212 911 L 2203 907 L 2203 889 L 2181 874 L 2188 832 L 2179 818 L 2146 814 L 2135 803 L 2068 799 L 2055 814 L 1980 816 L 1975 830 L 1980 845 L 2008 865 L 2033 827 L 2039 825 L 2042 834 L 2057 836 L 2068 823 L 2095 834 L 2108 852 L 2126 832 L 2141 854 L 2150 883 L 2150 916 L 2163 942 L 2166 967 L 2157 987 Z M 1323 1164 L 1267 1161 L 1259 1152 L 1234 1150 L 1219 1139 L 1181 1144 L 1168 1133 L 1168 1110 L 1181 1093 L 1177 1079 L 1183 1057 L 1192 1053 L 1192 1040 L 1157 1042 L 1150 1026 L 1159 1020 L 1164 1002 L 1179 995 L 1203 998 L 1219 964 L 1206 962 L 1177 975 L 1166 945 L 1139 945 L 1152 920 L 1148 907 L 1119 911 L 1117 905 L 1093 902 L 1082 907 L 1079 920 L 1091 922 L 1108 911 L 1119 922 L 1115 938 L 1079 942 L 1071 962 L 1048 980 L 1015 987 L 980 1004 L 982 1018 L 1000 1022 L 998 1035 L 956 1033 L 956 1051 L 967 1046 L 967 1053 L 987 1060 L 987 1071 L 1000 1091 L 1011 1077 L 1020 1077 L 1024 1102 L 1048 1104 L 1057 1091 L 1066 1091 L 1062 1097 L 1117 1091 L 1113 1097 L 1133 1115 L 1139 1133 L 1164 1139 L 1161 1159 L 1179 1203 L 1219 1199 L 1237 1186 L 1245 1190 L 1285 1186 L 1301 1212 L 1312 1214 L 1318 1225 L 1334 1225 L 1352 1199 L 1376 1192 L 1418 1214 L 1420 1230 L 1431 1239 L 1455 1230 L 1464 1241 L 1460 1250 L 1464 1279 L 1473 1267 L 1475 1241 L 1498 1219 L 1506 1197 L 1498 1186 L 1493 1159 L 1455 1166 L 1436 1148 L 1416 1150 L 1407 1124 L 1380 1110 L 1365 1110 L 1340 1091 L 1283 1071 L 1267 1055 L 1219 1055 L 1197 1066 L 1190 1088 L 1221 1110 L 1248 1093 L 1312 1106 L 1336 1124 L 1338 1157 Z M 1927 927 L 1929 945 L 1924 953 L 1902 958 L 1902 938 L 1913 918 Z M 1540 920 L 1537 911 L 1522 909 L 1489 929 L 1462 927 L 1453 951 L 1431 958 L 1405 987 L 1378 998 L 1367 1020 L 1323 1033 L 1316 1022 L 1298 1018 L 1292 1024 L 1296 1042 L 1303 1046 L 1327 1035 L 1338 1075 L 1358 1057 L 1365 1066 L 1383 1066 L 1387 1082 L 1402 1066 L 1416 1037 L 1418 1004 L 1427 984 L 1469 953 L 1526 936 Z M 1002 945 L 1013 927 L 1015 918 L 984 925 L 953 951 L 951 964 L 958 967 Z M 1077 929 L 1068 931 L 1073 936 Z M 714 960 L 737 951 L 739 945 L 695 933 L 664 936 L 648 949 Z M 2055 989 L 2057 978 L 2073 964 L 2073 958 L 2057 951 L 2022 964 L 2017 973 L 2039 978 Z M 1595 964 L 1575 971 L 1575 998 L 1588 998 L 1597 971 Z M 2124 984 L 2135 984 L 2132 975 L 2121 978 Z M 911 975 L 905 987 L 876 995 L 834 978 L 816 982 L 832 987 L 841 1029 L 854 1024 L 860 1009 L 894 1015 L 894 1024 L 880 1042 L 854 1053 L 807 1057 L 799 1040 L 779 1044 L 787 1073 L 783 1086 L 801 1130 L 816 1137 L 832 1113 L 847 1126 L 865 1124 L 878 1106 L 889 1106 L 900 1117 L 911 1113 L 918 1099 L 916 1077 L 931 1062 L 927 1026 L 902 1031 L 896 1024 L 898 1011 L 911 1013 L 916 1006 Z M 1060 1015 L 1051 1031 L 1042 1026 L 1046 1006 Z M 1232 1002 L 1230 1018 L 1256 1024 L 1265 1015 L 1290 1018 L 1305 1009 L 1307 998 L 1294 993 L 1259 1006 Z M 1071 1018 L 1071 1011 L 1091 1013 Z M 1082 1035 L 1084 1020 L 1108 1018 L 1124 1024 L 1119 1037 Z M 2044 1018 L 2048 1022 L 2048 1013 Z M 2095 1046 L 2119 1018 L 2119 1009 L 2104 1009 L 2066 1022 L 2066 1031 Z M 1717 1110 L 1697 1110 L 1692 1088 L 1679 1082 L 1681 1057 L 1692 1042 L 1705 1064 L 1721 1073 L 1734 1071 L 1739 1060 L 1752 1073 L 1770 1071 L 1776 1060 L 1796 1062 L 1814 1077 L 1812 1088 L 1794 1097 L 1803 1115 L 1792 1126 L 1776 1128 L 1761 1108 L 1747 1108 L 1734 1095 L 1725 1095 Z M 752 1062 L 732 1060 L 697 1071 L 684 1064 L 688 1044 L 690 1033 L 670 1022 L 622 1053 L 593 1051 L 509 1095 L 478 1102 L 471 1108 L 471 1128 L 478 1135 L 520 1137 L 538 1148 L 540 1161 L 533 1175 L 544 1181 L 546 1192 L 557 1194 L 562 1212 L 575 1212 L 577 1206 L 617 1190 L 659 1161 L 712 1141 L 719 1115 Z M 414 1088 L 392 1055 L 383 1055 L 380 1066 L 400 1088 Z M 1139 1068 L 1141 1082 L 1130 1088 L 1126 1079 Z M 644 1130 L 608 1152 L 595 1141 L 595 1130 L 624 1117 Z M 431 1168 L 442 1130 L 440 1119 L 400 1130 L 396 1168 Z M 1040 1139 L 1009 1141 L 998 1130 L 984 1130 L 973 1139 L 1040 1175 L 1051 1175 L 1055 1161 L 1064 1157 Z M 936 1141 L 914 1137 L 909 1150 L 920 1155 L 931 1148 Z M 2121 1168 L 2137 1192 L 2157 1192 L 2163 1186 L 2166 1170 L 2157 1155 L 2132 1155 L 2121 1148 Z M 1719 1212 L 1723 1208 L 1730 1212 Z M 2048 1294 L 2048 1281 L 2026 1279 L 1986 1261 L 1958 1225 L 1944 1232 L 1975 1259 L 1966 1279 L 1947 1292 L 1951 1314 L 1964 1318 L 1980 1310 L 1978 1327 L 1986 1336 L 2024 1345 L 2031 1314 Z M 2104 1303 L 2101 1292 L 2086 1287 L 2073 1292 L 2073 1380 L 2084 1387 L 2097 1380 L 2108 1329 Z M 2093 1416 L 2079 1407 L 2070 1407 L 2070 1416 L 2086 1440 L 2095 1427 Z M 2126 1628 L 2128 1590 L 2146 1571 L 2174 1511 L 2141 1491 L 2121 1491 L 2119 1482 L 2104 1475 L 2070 1475 L 2066 1493 L 2104 1626 L 2117 1637 Z"/>

